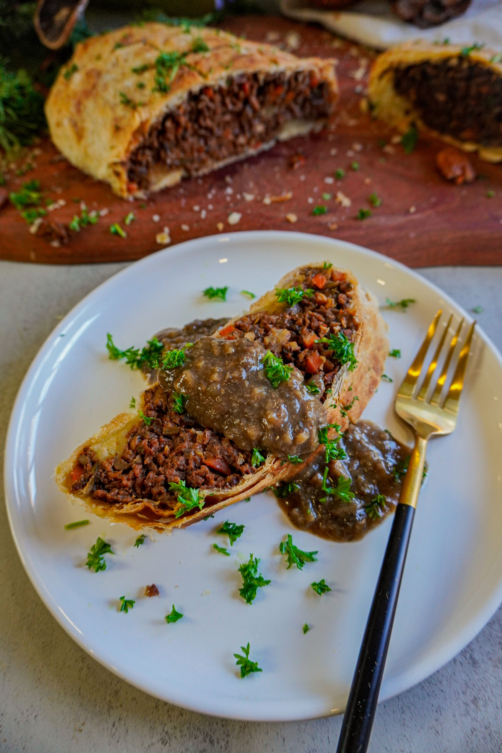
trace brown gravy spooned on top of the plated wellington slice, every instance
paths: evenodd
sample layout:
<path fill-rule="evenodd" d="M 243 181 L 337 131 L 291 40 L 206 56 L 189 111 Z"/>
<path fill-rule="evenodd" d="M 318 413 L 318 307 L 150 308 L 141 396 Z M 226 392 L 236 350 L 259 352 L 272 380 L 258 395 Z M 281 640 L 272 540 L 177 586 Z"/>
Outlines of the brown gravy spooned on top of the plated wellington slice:
<path fill-rule="evenodd" d="M 183 367 L 160 370 L 168 392 L 187 397 L 187 413 L 220 431 L 241 450 L 267 450 L 286 459 L 309 456 L 318 447 L 326 410 L 303 386 L 297 368 L 273 388 L 262 365 L 266 349 L 257 340 L 201 337 L 187 350 Z"/>

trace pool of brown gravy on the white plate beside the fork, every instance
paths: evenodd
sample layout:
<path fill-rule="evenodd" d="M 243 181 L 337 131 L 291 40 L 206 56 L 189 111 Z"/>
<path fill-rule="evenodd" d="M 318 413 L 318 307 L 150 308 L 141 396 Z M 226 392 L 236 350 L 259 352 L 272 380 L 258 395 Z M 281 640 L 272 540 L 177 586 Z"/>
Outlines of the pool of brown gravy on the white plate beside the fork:
<path fill-rule="evenodd" d="M 278 503 L 297 528 L 331 541 L 356 541 L 394 511 L 411 451 L 371 421 L 351 425 L 339 446 L 347 458 L 328 464 L 327 486 L 336 486 L 340 476 L 350 478 L 353 499 L 344 502 L 321 489 L 326 468 L 322 447 L 291 482 L 298 488 L 278 496 Z M 288 487 L 279 487 L 279 494 L 281 489 L 284 493 Z M 385 502 L 369 507 L 377 495 L 385 496 Z"/>

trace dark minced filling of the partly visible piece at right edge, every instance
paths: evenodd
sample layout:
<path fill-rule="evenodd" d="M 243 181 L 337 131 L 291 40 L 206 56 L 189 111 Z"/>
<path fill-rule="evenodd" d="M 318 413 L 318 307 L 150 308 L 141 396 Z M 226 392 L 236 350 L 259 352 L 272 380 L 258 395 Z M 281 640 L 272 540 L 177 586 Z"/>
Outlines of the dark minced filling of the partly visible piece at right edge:
<path fill-rule="evenodd" d="M 483 146 L 502 146 L 502 77 L 455 56 L 394 69 L 394 89 L 439 133 Z"/>

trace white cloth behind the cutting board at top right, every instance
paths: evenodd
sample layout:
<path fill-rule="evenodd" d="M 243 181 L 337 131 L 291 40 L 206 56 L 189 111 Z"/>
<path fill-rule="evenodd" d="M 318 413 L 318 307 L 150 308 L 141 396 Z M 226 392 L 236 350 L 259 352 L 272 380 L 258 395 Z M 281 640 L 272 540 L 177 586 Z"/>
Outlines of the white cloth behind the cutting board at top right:
<path fill-rule="evenodd" d="M 431 29 L 418 29 L 395 16 L 386 0 L 360 0 L 346 11 L 308 8 L 305 0 L 281 0 L 281 11 L 297 21 L 316 21 L 330 32 L 385 50 L 395 44 L 425 39 L 430 42 L 448 38 L 452 44 L 485 44 L 502 48 L 502 2 L 473 0 L 463 16 Z"/>

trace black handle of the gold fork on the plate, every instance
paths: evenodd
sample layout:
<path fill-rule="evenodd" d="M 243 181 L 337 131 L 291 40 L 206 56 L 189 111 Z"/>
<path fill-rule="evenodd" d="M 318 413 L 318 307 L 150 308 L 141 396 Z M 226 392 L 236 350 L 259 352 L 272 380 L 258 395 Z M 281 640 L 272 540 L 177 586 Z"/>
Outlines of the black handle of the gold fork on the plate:
<path fill-rule="evenodd" d="M 397 505 L 336 753 L 366 753 L 370 743 L 414 516 L 411 505 Z"/>

